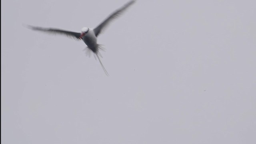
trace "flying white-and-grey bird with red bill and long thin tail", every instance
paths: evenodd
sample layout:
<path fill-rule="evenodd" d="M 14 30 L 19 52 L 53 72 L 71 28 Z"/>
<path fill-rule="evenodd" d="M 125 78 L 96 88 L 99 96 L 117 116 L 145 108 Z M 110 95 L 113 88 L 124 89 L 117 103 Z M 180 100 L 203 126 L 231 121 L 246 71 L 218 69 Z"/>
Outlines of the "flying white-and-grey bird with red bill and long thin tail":
<path fill-rule="evenodd" d="M 110 14 L 103 22 L 101 22 L 96 28 L 87 28 L 83 27 L 81 32 L 71 32 L 68 30 L 62 30 L 59 28 L 44 28 L 44 27 L 39 27 L 39 26 L 32 26 L 32 25 L 26 25 L 27 28 L 31 30 L 36 30 L 36 31 L 41 31 L 41 32 L 46 32 L 50 34 L 59 34 L 59 35 L 65 35 L 71 38 L 74 38 L 76 40 L 83 40 L 84 43 L 87 45 L 87 48 L 90 52 L 93 52 L 96 57 L 98 58 L 100 65 L 102 66 L 102 69 L 108 76 L 108 72 L 106 68 L 103 66 L 100 57 L 101 54 L 99 50 L 103 50 L 102 45 L 98 44 L 97 42 L 97 37 L 102 33 L 102 31 L 110 24 L 112 20 L 120 16 L 128 7 L 130 7 L 132 4 L 134 4 L 136 0 L 130 0 L 124 6 L 121 8 L 115 10 L 112 14 Z M 99 57 L 100 56 L 100 57 Z"/>

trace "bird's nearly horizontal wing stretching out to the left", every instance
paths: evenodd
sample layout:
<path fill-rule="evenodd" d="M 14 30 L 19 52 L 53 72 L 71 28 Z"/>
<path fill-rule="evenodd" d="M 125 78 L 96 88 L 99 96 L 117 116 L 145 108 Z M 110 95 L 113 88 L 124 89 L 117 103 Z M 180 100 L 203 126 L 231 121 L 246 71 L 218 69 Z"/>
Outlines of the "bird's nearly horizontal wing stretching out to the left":
<path fill-rule="evenodd" d="M 70 31 L 66 31 L 66 30 L 61 30 L 61 29 L 57 29 L 57 28 L 42 28 L 42 27 L 38 27 L 38 26 L 27 26 L 27 28 L 31 29 L 31 30 L 38 30 L 38 31 L 42 31 L 42 32 L 47 32 L 50 34 L 60 34 L 60 35 L 66 35 L 68 37 L 71 38 L 75 38 L 80 40 L 80 33 L 78 32 L 70 32 Z"/>

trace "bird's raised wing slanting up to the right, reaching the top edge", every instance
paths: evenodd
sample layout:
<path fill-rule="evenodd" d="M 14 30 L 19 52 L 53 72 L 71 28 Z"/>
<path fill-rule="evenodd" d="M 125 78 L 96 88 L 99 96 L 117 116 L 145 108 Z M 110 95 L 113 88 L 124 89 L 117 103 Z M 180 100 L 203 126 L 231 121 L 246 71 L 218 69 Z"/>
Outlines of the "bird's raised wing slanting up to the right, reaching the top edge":
<path fill-rule="evenodd" d="M 115 18 L 117 18 L 118 16 L 120 16 L 120 14 L 122 14 L 122 12 L 124 12 L 124 10 L 126 10 L 129 6 L 131 6 L 135 1 L 136 0 L 131 0 L 130 2 L 128 2 L 127 4 L 122 6 L 122 8 L 119 8 L 114 13 L 112 13 L 110 16 L 108 16 L 108 18 L 106 18 L 106 20 L 104 20 L 100 25 L 98 25 L 96 28 L 94 28 L 95 35 L 98 36 L 100 34 L 100 32 L 102 32 L 102 30 L 104 28 L 106 28 L 106 26 L 109 24 L 110 21 L 112 21 Z"/>

